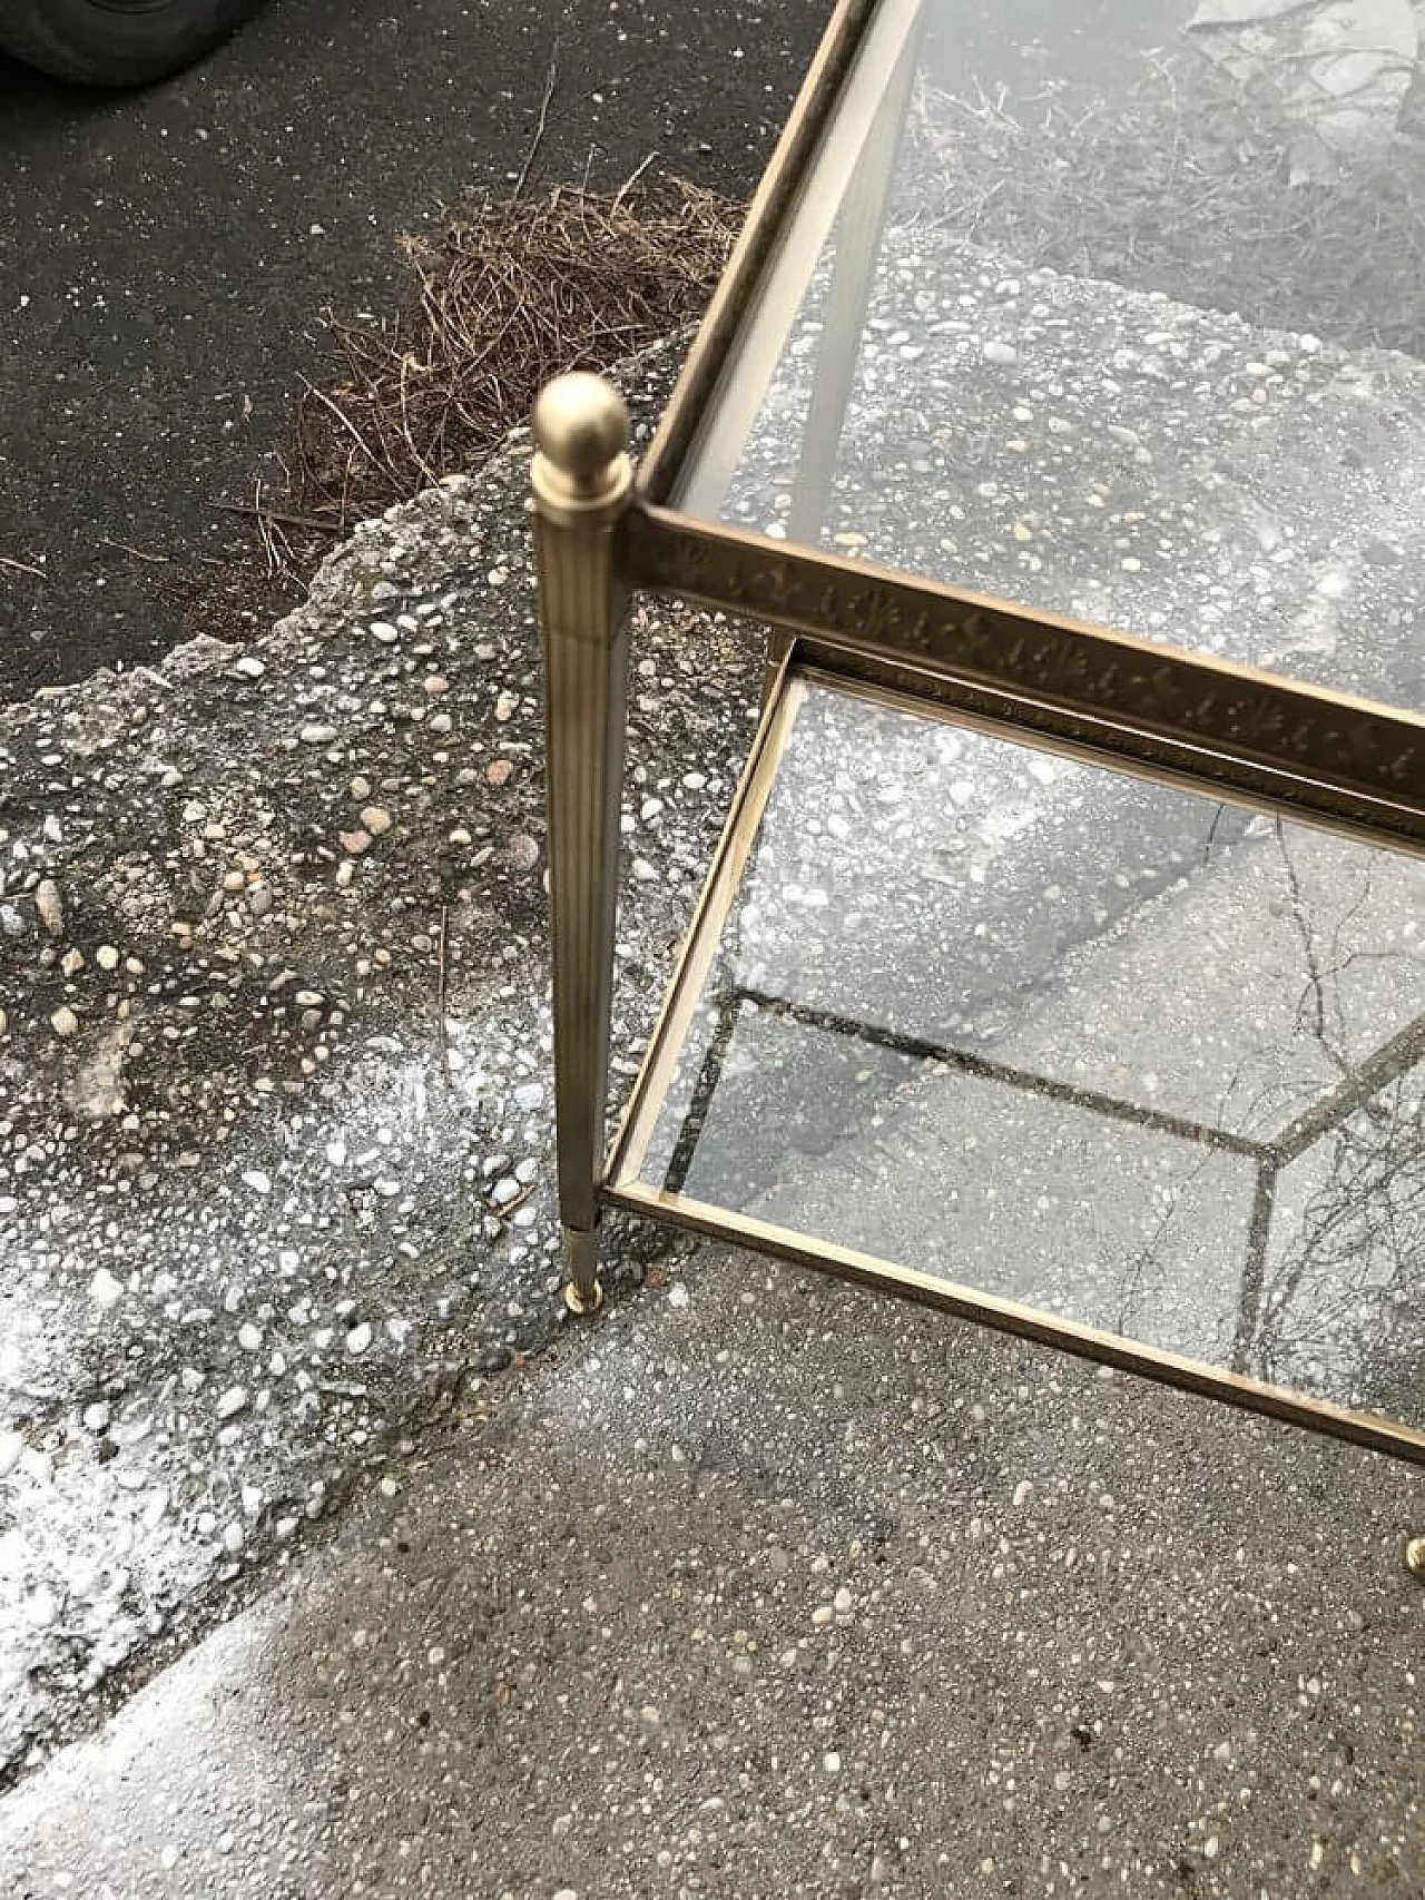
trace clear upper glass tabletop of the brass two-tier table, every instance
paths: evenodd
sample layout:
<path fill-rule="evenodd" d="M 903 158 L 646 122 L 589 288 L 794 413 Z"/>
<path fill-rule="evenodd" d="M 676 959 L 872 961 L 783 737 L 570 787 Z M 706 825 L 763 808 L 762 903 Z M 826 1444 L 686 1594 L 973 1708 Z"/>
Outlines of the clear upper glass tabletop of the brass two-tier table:
<path fill-rule="evenodd" d="M 1417 23 L 882 0 L 671 500 L 1425 707 Z"/>

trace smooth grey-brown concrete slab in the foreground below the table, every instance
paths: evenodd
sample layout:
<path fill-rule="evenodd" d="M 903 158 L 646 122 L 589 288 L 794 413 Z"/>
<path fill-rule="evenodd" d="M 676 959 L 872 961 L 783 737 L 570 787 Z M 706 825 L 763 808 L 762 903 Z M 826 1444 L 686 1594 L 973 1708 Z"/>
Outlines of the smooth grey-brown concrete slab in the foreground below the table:
<path fill-rule="evenodd" d="M 1406 1469 L 711 1248 L 504 1391 L 6 1892 L 1419 1892 Z"/>

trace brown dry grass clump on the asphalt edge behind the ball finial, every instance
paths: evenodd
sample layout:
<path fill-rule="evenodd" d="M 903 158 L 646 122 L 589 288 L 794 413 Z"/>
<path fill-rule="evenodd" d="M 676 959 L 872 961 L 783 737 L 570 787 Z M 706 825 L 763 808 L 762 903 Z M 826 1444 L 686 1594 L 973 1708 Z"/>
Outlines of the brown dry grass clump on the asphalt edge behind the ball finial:
<path fill-rule="evenodd" d="M 711 192 L 635 177 L 616 196 L 484 200 L 408 241 L 403 310 L 323 317 L 332 378 L 296 403 L 285 492 L 247 505 L 270 570 L 308 570 L 357 521 L 477 469 L 551 376 L 608 369 L 701 315 L 737 222 Z"/>

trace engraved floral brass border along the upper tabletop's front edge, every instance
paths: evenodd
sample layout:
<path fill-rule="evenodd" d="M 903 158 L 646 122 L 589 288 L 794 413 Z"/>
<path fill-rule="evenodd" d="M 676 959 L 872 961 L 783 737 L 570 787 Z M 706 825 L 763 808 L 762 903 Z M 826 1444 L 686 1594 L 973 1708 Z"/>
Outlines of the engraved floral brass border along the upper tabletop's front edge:
<path fill-rule="evenodd" d="M 1150 770 L 1425 849 L 1425 718 L 1009 602 L 906 580 L 635 498 L 633 587 L 754 616 L 933 695 Z M 874 676 L 874 674 L 868 674 Z"/>

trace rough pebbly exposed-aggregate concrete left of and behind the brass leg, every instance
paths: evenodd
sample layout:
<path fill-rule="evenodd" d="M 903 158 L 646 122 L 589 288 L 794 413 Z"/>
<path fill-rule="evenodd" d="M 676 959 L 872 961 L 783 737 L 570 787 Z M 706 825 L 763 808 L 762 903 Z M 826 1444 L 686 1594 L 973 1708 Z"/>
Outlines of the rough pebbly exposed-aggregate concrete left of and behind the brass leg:
<path fill-rule="evenodd" d="M 644 433 L 673 365 L 642 367 Z M 526 492 L 517 437 L 361 528 L 255 650 L 0 712 L 0 1782 L 562 1320 Z M 627 1056 L 760 667 L 652 604 L 635 644 L 659 878 L 619 944 Z"/>

